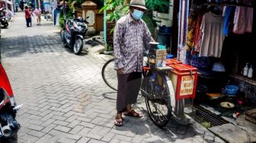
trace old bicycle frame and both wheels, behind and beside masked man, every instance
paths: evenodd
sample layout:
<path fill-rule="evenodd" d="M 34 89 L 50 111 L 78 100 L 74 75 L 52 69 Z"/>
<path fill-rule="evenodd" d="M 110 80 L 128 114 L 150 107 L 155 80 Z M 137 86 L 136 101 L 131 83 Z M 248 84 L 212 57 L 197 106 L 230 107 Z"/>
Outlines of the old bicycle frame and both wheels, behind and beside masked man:
<path fill-rule="evenodd" d="M 145 97 L 150 119 L 156 126 L 162 127 L 171 118 L 171 99 L 169 95 L 174 94 L 174 91 L 171 91 L 173 87 L 168 78 L 168 71 L 172 68 L 155 67 L 155 65 L 149 64 L 149 57 L 146 60 L 142 71 L 140 91 L 142 96 Z M 107 86 L 117 91 L 117 71 L 114 69 L 114 59 L 110 59 L 104 64 L 101 75 Z"/>

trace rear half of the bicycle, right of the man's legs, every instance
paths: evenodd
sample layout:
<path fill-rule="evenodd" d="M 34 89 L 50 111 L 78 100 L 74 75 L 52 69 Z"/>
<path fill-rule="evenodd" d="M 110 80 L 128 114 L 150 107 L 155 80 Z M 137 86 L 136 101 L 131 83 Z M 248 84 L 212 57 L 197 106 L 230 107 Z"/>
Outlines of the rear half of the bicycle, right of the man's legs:
<path fill-rule="evenodd" d="M 171 80 L 168 77 L 168 72 L 171 67 L 157 67 L 149 62 L 149 55 L 152 53 L 146 52 L 148 57 L 147 65 L 142 68 L 142 86 L 140 91 L 146 100 L 146 108 L 149 117 L 156 126 L 162 127 L 168 124 L 171 119 L 171 94 L 174 95 L 174 90 Z"/>

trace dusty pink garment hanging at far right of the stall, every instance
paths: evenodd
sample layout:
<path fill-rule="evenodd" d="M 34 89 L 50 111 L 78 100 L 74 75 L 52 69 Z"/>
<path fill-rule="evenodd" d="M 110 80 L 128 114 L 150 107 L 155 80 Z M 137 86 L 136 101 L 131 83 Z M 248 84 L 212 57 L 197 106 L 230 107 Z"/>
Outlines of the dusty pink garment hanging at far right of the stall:
<path fill-rule="evenodd" d="M 253 22 L 253 8 L 240 7 L 235 8 L 234 33 L 251 33 Z"/>

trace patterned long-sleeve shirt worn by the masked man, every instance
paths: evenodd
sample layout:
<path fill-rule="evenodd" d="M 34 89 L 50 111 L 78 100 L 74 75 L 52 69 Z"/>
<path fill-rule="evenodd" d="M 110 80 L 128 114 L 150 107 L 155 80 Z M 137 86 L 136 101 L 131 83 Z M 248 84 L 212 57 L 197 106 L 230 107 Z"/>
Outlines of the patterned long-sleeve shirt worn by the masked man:
<path fill-rule="evenodd" d="M 130 13 L 121 17 L 114 30 L 115 68 L 123 68 L 123 74 L 142 71 L 143 51 L 154 41 L 146 23 L 135 23 Z"/>

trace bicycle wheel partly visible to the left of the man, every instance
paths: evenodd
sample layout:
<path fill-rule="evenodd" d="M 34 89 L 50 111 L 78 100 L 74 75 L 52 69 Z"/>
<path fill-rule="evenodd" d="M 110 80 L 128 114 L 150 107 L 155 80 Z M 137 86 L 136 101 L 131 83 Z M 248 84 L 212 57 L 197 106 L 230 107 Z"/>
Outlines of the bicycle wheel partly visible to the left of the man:
<path fill-rule="evenodd" d="M 114 69 L 114 59 L 108 60 L 103 65 L 101 75 L 107 86 L 117 91 L 117 71 Z"/>

